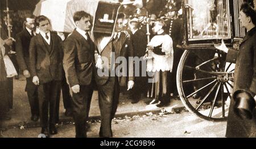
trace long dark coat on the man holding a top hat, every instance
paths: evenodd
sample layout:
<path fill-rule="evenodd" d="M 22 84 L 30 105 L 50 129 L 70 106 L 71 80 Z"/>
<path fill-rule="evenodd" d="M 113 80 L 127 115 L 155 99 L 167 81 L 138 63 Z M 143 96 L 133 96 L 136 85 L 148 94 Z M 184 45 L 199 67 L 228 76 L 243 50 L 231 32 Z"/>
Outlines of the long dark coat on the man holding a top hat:
<path fill-rule="evenodd" d="M 239 50 L 229 49 L 228 60 L 236 61 L 233 95 L 247 92 L 253 98 L 256 94 L 256 27 L 246 33 Z M 252 120 L 241 120 L 234 113 L 234 100 L 231 100 L 226 137 L 249 137 L 256 132 L 256 110 Z M 255 137 L 255 136 L 254 136 Z"/>

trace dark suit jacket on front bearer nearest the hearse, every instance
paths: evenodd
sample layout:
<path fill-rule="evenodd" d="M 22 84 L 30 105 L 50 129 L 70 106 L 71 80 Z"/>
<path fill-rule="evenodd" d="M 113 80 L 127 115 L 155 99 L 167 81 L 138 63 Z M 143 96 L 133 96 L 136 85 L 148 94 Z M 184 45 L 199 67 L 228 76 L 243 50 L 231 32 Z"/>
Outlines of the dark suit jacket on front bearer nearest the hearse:
<path fill-rule="evenodd" d="M 108 71 L 109 75 L 108 76 L 99 76 L 98 73 L 96 74 L 96 83 L 97 85 L 104 85 L 105 83 L 108 82 L 110 74 L 111 74 L 111 52 L 114 51 L 115 52 L 115 59 L 117 59 L 118 57 L 125 57 L 127 60 L 127 71 L 126 74 L 127 76 L 119 76 L 118 80 L 119 80 L 119 84 L 120 86 L 126 86 L 127 84 L 127 79 L 128 80 L 134 80 L 134 76 L 133 76 L 133 61 L 129 61 L 128 62 L 128 58 L 129 57 L 134 57 L 134 52 L 133 52 L 133 45 L 131 45 L 131 40 L 128 39 L 127 37 L 125 37 L 125 33 L 121 33 L 119 40 L 117 42 L 119 42 L 117 45 L 118 47 L 115 47 L 115 43 L 116 41 L 110 40 L 110 42 L 105 46 L 105 48 L 102 50 L 101 52 L 101 57 L 102 60 L 106 60 L 104 61 L 104 70 L 102 71 Z M 119 65 L 122 65 L 122 63 L 120 63 Z M 115 64 L 115 69 L 119 66 L 118 64 Z M 106 70 L 105 70 L 106 69 Z M 123 72 L 123 71 L 121 71 Z M 117 76 L 115 74 L 115 76 Z"/>

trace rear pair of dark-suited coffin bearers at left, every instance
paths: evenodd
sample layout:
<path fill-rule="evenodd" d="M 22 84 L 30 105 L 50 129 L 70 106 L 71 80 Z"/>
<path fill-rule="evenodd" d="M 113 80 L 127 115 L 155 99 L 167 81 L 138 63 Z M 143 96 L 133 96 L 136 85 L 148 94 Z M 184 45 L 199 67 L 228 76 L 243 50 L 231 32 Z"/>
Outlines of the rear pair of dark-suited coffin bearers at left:
<path fill-rule="evenodd" d="M 35 27 L 39 28 L 38 33 Z M 51 24 L 46 16 L 28 16 L 15 42 L 18 64 L 27 81 L 25 91 L 30 103 L 31 120 L 38 121 L 40 118 L 41 133 L 46 135 L 57 133 L 55 124 L 59 121 L 60 90 L 67 88 L 63 76 L 63 41 L 50 30 Z M 71 107 L 67 103 L 71 103 L 72 99 L 69 88 L 63 92 L 67 113 Z"/>

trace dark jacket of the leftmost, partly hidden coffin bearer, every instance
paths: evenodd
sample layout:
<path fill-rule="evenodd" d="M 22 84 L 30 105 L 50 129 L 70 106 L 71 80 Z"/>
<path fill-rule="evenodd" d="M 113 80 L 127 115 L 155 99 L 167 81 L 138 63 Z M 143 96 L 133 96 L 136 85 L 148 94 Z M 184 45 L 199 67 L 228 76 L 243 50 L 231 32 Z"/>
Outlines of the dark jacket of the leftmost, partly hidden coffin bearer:
<path fill-rule="evenodd" d="M 23 31 L 19 32 L 16 35 L 16 42 L 15 48 L 17 53 L 17 61 L 20 70 L 27 70 L 29 64 L 29 48 L 30 48 L 30 41 L 32 36 L 27 31 L 27 29 L 23 29 Z"/>

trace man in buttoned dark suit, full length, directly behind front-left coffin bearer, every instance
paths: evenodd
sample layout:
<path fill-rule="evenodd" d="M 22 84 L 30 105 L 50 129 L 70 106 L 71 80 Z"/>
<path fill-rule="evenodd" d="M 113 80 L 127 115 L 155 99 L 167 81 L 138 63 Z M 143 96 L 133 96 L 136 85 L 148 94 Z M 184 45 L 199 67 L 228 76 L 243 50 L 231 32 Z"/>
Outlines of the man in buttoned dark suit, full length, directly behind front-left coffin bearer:
<path fill-rule="evenodd" d="M 30 42 L 30 74 L 38 86 L 39 114 L 42 134 L 56 134 L 56 100 L 62 79 L 63 49 L 61 39 L 50 31 L 49 19 L 40 15 L 35 19 L 40 32 Z M 49 108 L 49 120 L 48 120 Z"/>

